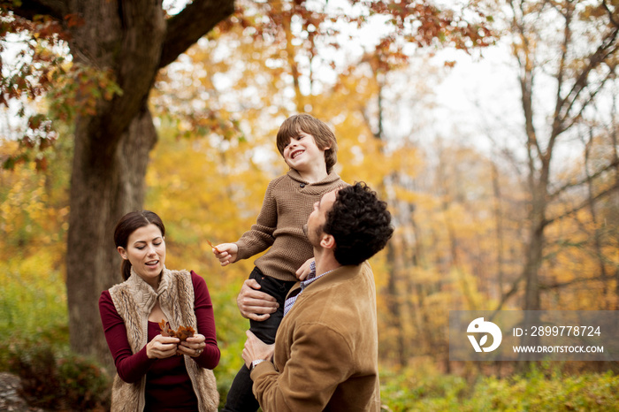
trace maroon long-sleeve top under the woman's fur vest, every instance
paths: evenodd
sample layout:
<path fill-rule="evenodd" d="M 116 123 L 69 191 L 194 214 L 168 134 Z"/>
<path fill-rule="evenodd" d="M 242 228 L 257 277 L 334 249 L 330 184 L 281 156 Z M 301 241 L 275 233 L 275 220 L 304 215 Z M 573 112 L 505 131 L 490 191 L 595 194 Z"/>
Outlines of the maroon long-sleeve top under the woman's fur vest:
<path fill-rule="evenodd" d="M 194 285 L 197 332 L 204 335 L 206 344 L 202 355 L 192 359 L 201 367 L 212 370 L 218 365 L 220 356 L 213 305 L 204 279 L 191 271 L 191 281 Z M 99 312 L 118 376 L 125 382 L 134 383 L 146 374 L 146 409 L 167 410 L 173 407 L 197 410 L 197 398 L 187 375 L 184 356 L 149 359 L 146 345 L 134 354 L 126 338 L 125 322 L 118 315 L 107 290 L 99 298 Z M 158 334 L 159 324 L 149 321 L 148 341 Z"/>

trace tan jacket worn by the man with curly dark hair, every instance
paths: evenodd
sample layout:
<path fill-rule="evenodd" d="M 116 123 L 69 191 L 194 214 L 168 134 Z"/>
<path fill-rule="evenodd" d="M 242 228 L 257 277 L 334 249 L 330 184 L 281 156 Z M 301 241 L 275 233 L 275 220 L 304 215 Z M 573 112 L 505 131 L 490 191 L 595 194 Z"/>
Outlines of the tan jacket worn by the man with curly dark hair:
<path fill-rule="evenodd" d="M 256 365 L 251 378 L 264 412 L 378 412 L 378 325 L 370 263 L 342 266 L 307 286 L 279 325 L 273 362 Z"/>

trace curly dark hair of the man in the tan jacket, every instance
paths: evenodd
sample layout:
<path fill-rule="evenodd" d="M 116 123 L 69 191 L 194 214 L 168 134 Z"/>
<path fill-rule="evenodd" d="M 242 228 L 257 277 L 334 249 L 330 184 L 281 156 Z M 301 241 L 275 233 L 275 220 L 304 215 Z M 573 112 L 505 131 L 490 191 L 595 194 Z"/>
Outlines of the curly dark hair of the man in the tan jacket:
<path fill-rule="evenodd" d="M 394 233 L 386 202 L 364 182 L 341 188 L 323 231 L 335 239 L 333 254 L 342 265 L 360 264 L 385 248 Z"/>

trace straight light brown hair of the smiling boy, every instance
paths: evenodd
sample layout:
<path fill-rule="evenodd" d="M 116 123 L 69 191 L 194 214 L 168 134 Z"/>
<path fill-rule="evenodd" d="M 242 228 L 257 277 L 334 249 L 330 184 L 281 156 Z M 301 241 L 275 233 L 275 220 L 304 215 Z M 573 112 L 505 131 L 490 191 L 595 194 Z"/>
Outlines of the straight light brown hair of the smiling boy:
<path fill-rule="evenodd" d="M 325 122 L 307 113 L 295 114 L 279 126 L 276 144 L 281 156 L 284 156 L 284 149 L 290 139 L 297 137 L 299 132 L 314 136 L 318 149 L 330 148 L 325 150 L 325 164 L 326 172 L 331 173 L 333 166 L 338 162 L 338 141 Z"/>

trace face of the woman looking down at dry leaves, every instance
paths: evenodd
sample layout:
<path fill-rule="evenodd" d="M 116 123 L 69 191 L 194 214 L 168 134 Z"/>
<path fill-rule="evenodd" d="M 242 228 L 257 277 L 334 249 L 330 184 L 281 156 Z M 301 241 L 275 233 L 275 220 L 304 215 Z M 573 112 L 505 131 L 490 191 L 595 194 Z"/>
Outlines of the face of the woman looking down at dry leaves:
<path fill-rule="evenodd" d="M 136 229 L 129 235 L 126 248 L 118 247 L 118 253 L 131 262 L 140 278 L 157 290 L 159 275 L 164 270 L 165 241 L 156 225 Z"/>

